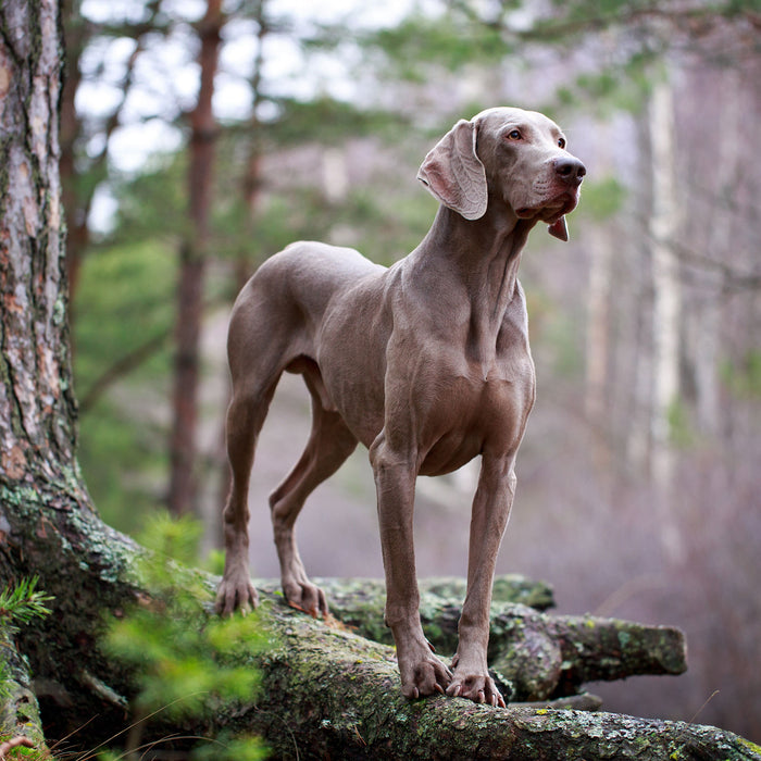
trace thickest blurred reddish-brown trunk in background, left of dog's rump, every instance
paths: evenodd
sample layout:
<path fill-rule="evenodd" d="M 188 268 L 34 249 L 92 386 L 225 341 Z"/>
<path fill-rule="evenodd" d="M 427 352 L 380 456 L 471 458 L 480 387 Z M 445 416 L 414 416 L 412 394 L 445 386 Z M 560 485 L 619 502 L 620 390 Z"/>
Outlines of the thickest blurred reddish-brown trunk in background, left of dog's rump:
<path fill-rule="evenodd" d="M 169 490 L 170 511 L 175 515 L 195 511 L 200 334 L 203 317 L 203 282 L 209 239 L 214 141 L 216 140 L 212 96 L 222 25 L 222 0 L 208 0 L 207 13 L 198 29 L 201 38 L 199 58 L 201 86 L 198 103 L 190 118 L 188 171 L 190 233 L 179 251 L 175 327 L 177 348 L 174 367 Z"/>

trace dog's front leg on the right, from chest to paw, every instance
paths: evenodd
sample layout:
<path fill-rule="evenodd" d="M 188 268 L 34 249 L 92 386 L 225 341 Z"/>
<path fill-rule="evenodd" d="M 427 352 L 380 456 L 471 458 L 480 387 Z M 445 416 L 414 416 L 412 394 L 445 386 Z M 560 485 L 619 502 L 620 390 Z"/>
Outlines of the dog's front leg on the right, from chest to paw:
<path fill-rule="evenodd" d="M 447 689 L 448 695 L 501 707 L 504 699 L 488 674 L 486 651 L 495 565 L 515 494 L 513 463 L 514 458 L 483 457 L 471 519 L 467 594 L 452 661 L 454 678 Z"/>

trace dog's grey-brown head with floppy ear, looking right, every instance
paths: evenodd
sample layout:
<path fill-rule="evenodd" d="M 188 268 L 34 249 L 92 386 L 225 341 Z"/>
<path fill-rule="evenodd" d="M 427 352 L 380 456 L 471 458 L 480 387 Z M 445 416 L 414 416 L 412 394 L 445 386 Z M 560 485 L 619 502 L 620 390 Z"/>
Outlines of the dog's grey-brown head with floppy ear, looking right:
<path fill-rule="evenodd" d="M 417 178 L 466 220 L 481 219 L 489 202 L 504 204 L 567 240 L 565 214 L 578 203 L 585 174 L 554 122 L 536 111 L 497 108 L 460 120 L 425 157 Z"/>

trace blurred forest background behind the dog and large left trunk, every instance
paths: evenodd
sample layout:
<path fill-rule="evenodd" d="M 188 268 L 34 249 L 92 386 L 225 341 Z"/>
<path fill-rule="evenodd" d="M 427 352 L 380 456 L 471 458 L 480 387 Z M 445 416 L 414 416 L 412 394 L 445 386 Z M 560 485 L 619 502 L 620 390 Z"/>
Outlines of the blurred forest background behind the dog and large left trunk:
<path fill-rule="evenodd" d="M 435 201 L 415 179 L 459 117 L 520 105 L 586 163 L 571 242 L 523 258 L 538 399 L 499 572 L 563 612 L 677 625 L 682 677 L 606 708 L 761 740 L 761 7 L 758 0 L 68 0 L 61 116 L 80 404 L 103 517 L 162 508 L 219 545 L 226 320 L 299 238 L 380 263 Z M 277 575 L 265 496 L 297 460 L 286 378 L 251 489 L 252 572 Z M 462 575 L 474 471 L 421 479 L 419 573 Z M 315 575 L 380 576 L 365 452 L 300 521 Z"/>

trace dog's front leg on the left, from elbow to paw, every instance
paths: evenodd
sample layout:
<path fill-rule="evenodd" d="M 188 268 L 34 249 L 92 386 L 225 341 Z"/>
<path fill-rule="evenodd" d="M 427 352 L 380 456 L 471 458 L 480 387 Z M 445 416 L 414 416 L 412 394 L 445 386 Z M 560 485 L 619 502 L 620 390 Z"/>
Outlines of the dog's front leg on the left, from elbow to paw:
<path fill-rule="evenodd" d="M 412 535 L 416 462 L 392 451 L 383 434 L 370 451 L 377 490 L 380 545 L 386 571 L 386 625 L 394 634 L 407 698 L 444 694 L 452 679 L 433 653 L 420 621 L 420 592 Z"/>

